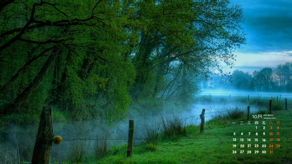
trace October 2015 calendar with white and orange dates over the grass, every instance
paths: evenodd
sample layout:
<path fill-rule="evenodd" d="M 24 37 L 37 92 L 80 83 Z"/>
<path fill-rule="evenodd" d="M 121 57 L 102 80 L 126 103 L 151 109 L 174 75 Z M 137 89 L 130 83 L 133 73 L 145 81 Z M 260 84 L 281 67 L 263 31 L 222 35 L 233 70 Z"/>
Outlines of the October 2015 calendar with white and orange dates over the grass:
<path fill-rule="evenodd" d="M 238 125 L 250 126 L 249 132 L 241 132 L 240 128 L 233 132 L 232 153 L 256 153 L 274 154 L 276 149 L 281 147 L 281 121 L 277 120 L 273 114 L 252 115 L 254 120 L 260 121 L 240 121 Z M 266 121 L 265 121 L 266 120 Z"/>

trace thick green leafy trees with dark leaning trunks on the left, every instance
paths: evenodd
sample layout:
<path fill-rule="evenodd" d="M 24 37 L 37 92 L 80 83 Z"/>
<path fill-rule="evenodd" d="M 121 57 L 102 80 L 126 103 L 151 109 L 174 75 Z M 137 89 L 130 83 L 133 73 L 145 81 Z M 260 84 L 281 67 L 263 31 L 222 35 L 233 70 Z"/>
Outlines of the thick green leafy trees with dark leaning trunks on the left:
<path fill-rule="evenodd" d="M 124 33 L 125 26 L 133 20 L 122 13 L 123 8 L 126 7 L 116 1 L 43 0 L 9 3 L 1 8 L 0 62 L 12 66 L 5 78 L 1 73 L 1 98 L 5 101 L 0 113 L 14 112 L 43 85 L 47 89 L 39 99 L 47 99 L 46 102 L 33 103 L 55 100 L 54 104 L 65 107 L 76 118 L 78 111 L 83 113 L 80 109 L 86 108 L 85 98 L 102 88 L 109 102 L 108 120 L 124 117 L 131 103 L 128 92 L 135 72 L 120 55 L 129 45 L 121 43 L 132 44 L 138 38 Z"/>

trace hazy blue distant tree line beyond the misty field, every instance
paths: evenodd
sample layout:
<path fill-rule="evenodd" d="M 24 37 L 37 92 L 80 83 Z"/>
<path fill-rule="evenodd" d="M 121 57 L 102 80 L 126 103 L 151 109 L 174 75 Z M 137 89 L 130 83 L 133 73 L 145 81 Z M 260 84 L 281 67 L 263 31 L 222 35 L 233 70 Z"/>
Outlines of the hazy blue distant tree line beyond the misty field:
<path fill-rule="evenodd" d="M 234 70 L 232 78 L 212 74 L 206 81 L 201 82 L 203 88 L 224 88 L 256 91 L 292 92 L 292 62 L 279 64 L 276 68 L 263 68 L 259 71 L 248 72 Z"/>

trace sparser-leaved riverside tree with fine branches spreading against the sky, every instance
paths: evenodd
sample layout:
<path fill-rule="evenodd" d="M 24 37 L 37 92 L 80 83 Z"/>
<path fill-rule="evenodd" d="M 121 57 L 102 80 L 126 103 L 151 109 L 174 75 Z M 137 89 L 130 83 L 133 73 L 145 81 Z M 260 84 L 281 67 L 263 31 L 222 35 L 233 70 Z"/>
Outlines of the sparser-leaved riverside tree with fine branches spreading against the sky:
<path fill-rule="evenodd" d="M 149 3 L 151 12 L 148 12 L 149 7 L 143 6 L 145 10 L 137 17 L 150 23 L 145 27 L 147 35 L 140 33 L 139 48 L 133 59 L 138 75 L 132 92 L 134 100 L 143 91 L 147 78 L 156 76 L 149 73 L 157 67 L 161 76 L 170 72 L 172 63 L 180 62 L 198 78 L 208 77 L 215 69 L 227 74 L 223 73 L 220 61 L 232 67 L 235 57 L 232 52 L 245 43 L 240 6 L 229 6 L 230 2 L 225 0 Z"/>

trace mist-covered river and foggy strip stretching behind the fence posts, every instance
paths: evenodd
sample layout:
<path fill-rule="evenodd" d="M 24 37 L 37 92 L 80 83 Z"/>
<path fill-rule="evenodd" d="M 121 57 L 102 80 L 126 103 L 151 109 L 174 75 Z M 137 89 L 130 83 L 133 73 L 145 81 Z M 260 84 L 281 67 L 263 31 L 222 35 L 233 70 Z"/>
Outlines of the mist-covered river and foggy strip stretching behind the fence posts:
<path fill-rule="evenodd" d="M 187 123 L 199 124 L 201 119 L 199 115 L 202 109 L 205 111 L 205 120 L 208 121 L 216 112 L 218 107 L 233 107 L 239 106 L 246 108 L 249 106 L 248 95 L 250 102 L 252 102 L 256 97 L 260 96 L 267 102 L 272 97 L 277 97 L 279 100 L 288 99 L 289 102 L 292 100 L 291 93 L 270 93 L 270 92 L 252 92 L 252 91 L 237 91 L 237 90 L 203 90 L 203 92 L 196 97 L 192 103 L 191 109 L 173 109 L 174 112 L 183 111 L 182 117 L 188 118 Z M 281 95 L 281 99 L 280 99 Z M 255 111 L 256 108 L 251 107 L 251 112 Z M 166 112 L 161 112 L 166 114 Z M 168 112 L 171 114 L 171 112 Z M 116 126 L 109 126 L 105 124 L 105 120 L 90 120 L 90 121 L 74 121 L 74 122 L 53 122 L 53 132 L 54 136 L 60 135 L 63 139 L 73 139 L 83 137 L 81 139 L 97 139 L 97 137 L 102 137 L 103 135 L 94 136 L 103 133 L 110 133 L 109 138 L 111 144 L 121 144 L 127 143 L 128 139 L 128 121 L 129 119 L 134 120 L 134 138 L 142 138 L 143 128 L 140 126 L 145 126 L 145 122 L 149 125 L 154 124 L 155 120 L 159 119 L 160 115 L 144 115 L 140 117 L 126 118 L 120 121 Z M 159 120 L 160 121 L 160 120 Z M 11 152 L 15 151 L 17 144 L 19 151 L 25 160 L 29 160 L 29 156 L 32 155 L 32 144 L 35 142 L 37 130 L 37 125 L 11 125 L 8 127 L 0 128 L 0 154 L 3 154 L 4 149 L 9 149 Z M 123 131 L 121 131 L 123 130 Z M 86 137 L 91 136 L 91 137 Z M 16 142 L 17 141 L 17 142 Z M 135 140 L 138 142 L 141 140 Z M 51 162 L 62 161 L 66 158 L 66 152 L 69 150 L 69 146 L 76 141 L 63 141 L 60 145 L 53 144 L 51 152 Z M 91 152 L 95 141 L 86 141 L 86 144 L 91 144 L 89 152 Z M 1 158 L 1 155 L 0 155 Z"/>

